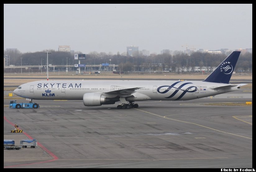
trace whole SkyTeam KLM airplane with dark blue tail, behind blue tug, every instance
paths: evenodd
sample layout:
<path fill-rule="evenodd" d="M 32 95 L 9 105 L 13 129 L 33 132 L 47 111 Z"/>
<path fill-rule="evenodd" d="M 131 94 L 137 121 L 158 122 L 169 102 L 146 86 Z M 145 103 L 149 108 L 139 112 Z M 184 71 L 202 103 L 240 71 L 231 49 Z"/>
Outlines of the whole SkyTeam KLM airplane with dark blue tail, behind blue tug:
<path fill-rule="evenodd" d="M 33 99 L 83 100 L 85 106 L 101 106 L 120 101 L 117 109 L 138 108 L 135 101 L 199 99 L 239 90 L 246 85 L 229 83 L 239 55 L 240 51 L 233 51 L 203 81 L 34 81 L 22 84 L 13 92 L 30 102 Z"/>

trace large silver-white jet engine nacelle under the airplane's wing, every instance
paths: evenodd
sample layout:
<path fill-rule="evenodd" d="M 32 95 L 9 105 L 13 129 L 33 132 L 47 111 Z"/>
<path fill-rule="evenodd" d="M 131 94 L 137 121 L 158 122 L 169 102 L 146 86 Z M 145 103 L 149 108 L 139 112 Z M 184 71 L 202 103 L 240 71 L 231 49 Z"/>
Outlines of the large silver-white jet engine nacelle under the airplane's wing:
<path fill-rule="evenodd" d="M 115 104 L 113 100 L 107 99 L 99 93 L 85 93 L 83 96 L 85 106 L 101 106 L 102 104 Z"/>

